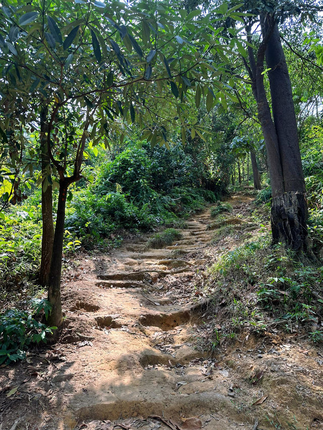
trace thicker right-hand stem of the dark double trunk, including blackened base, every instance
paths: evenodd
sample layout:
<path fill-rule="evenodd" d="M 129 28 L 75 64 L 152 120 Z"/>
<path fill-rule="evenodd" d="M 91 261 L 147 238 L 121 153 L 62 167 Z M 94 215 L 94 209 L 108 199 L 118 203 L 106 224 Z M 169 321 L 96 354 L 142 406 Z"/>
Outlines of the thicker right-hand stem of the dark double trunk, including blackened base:
<path fill-rule="evenodd" d="M 265 18 L 265 19 L 264 19 Z M 273 190 L 272 231 L 274 242 L 284 241 L 294 250 L 309 251 L 307 237 L 307 201 L 298 143 L 292 87 L 277 24 L 273 17 L 262 17 L 263 37 L 273 30 L 265 50 L 270 81 L 272 109 L 283 174 L 283 192 Z"/>

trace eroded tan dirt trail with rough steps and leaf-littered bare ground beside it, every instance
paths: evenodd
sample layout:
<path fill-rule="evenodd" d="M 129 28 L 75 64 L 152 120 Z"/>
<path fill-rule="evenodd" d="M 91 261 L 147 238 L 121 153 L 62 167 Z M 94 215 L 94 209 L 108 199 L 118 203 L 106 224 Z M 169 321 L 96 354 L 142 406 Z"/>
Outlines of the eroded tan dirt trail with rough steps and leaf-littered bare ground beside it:
<path fill-rule="evenodd" d="M 231 196 L 231 217 L 248 221 L 252 200 Z M 170 246 L 69 263 L 59 343 L 0 369 L 1 430 L 323 428 L 322 348 L 275 329 L 205 346 L 207 267 L 243 244 L 243 229 L 212 242 L 210 208 Z"/>

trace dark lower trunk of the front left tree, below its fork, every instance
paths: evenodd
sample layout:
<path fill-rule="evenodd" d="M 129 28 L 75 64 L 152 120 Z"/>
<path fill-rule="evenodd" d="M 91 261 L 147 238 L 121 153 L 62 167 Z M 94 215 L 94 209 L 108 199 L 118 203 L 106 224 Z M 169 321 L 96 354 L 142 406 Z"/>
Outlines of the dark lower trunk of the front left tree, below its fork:
<path fill-rule="evenodd" d="M 57 219 L 48 281 L 48 301 L 51 304 L 51 313 L 48 317 L 48 324 L 57 327 L 60 327 L 63 322 L 61 303 L 61 272 L 65 230 L 65 205 L 68 185 L 69 184 L 67 181 L 60 181 Z"/>

